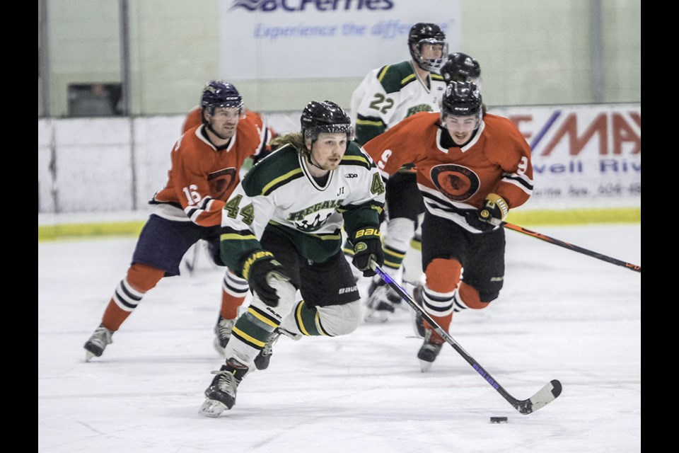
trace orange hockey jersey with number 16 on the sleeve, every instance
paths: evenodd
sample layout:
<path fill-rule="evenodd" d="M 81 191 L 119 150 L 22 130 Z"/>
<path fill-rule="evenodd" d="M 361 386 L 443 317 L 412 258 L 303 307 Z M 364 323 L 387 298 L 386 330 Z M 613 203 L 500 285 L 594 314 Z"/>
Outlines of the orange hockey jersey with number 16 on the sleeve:
<path fill-rule="evenodd" d="M 259 117 L 246 115 L 227 147 L 216 149 L 203 128 L 192 127 L 175 143 L 168 182 L 151 204 L 160 205 L 156 214 L 161 217 L 214 226 L 221 224 L 221 210 L 240 181 L 243 161 L 264 149 L 267 130 Z"/>

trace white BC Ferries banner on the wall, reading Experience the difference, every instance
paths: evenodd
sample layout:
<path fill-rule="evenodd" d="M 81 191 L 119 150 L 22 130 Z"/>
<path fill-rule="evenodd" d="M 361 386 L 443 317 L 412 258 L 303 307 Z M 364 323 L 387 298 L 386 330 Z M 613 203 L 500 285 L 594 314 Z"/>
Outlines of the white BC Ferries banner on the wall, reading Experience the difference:
<path fill-rule="evenodd" d="M 222 0 L 221 74 L 229 79 L 362 77 L 410 59 L 417 22 L 460 48 L 460 0 Z"/>

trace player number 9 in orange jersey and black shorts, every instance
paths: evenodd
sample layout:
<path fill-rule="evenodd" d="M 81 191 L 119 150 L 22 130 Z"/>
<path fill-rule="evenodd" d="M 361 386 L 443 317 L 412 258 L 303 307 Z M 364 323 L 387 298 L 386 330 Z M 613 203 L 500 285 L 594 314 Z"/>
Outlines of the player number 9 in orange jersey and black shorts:
<path fill-rule="evenodd" d="M 424 310 L 448 331 L 454 311 L 483 309 L 504 282 L 504 219 L 533 192 L 530 147 L 513 123 L 483 114 L 478 87 L 453 81 L 441 113 L 417 113 L 364 144 L 389 176 L 408 163 L 426 213 L 422 224 Z M 492 221 L 491 219 L 491 221 Z M 427 371 L 444 340 L 424 323 L 417 357 Z"/>

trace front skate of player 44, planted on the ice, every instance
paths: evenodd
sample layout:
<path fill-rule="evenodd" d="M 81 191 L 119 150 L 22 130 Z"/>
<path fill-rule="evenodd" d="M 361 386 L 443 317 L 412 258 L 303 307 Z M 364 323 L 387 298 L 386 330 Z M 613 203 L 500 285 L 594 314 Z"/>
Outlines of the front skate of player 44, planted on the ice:
<path fill-rule="evenodd" d="M 212 379 L 212 384 L 205 390 L 205 401 L 198 411 L 206 417 L 219 417 L 219 415 L 231 409 L 236 404 L 236 389 L 241 379 L 248 374 L 248 367 L 231 357 L 226 365 L 221 365 L 219 371 Z"/>

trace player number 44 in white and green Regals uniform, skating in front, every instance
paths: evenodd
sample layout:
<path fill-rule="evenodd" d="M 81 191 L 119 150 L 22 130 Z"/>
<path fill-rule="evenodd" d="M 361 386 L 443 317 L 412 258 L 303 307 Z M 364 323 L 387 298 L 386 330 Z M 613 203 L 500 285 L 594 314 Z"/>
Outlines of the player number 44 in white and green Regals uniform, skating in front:
<path fill-rule="evenodd" d="M 226 202 L 221 258 L 248 280 L 253 299 L 233 326 L 226 365 L 213 372 L 202 415 L 231 409 L 238 384 L 253 367 L 269 366 L 280 335 L 340 336 L 359 326 L 359 290 L 342 253 L 342 227 L 354 244 L 353 265 L 366 277 L 375 275 L 371 260 L 384 261 L 379 218 L 385 188 L 352 135 L 339 105 L 311 101 L 301 132 L 279 137 L 277 150 Z"/>

